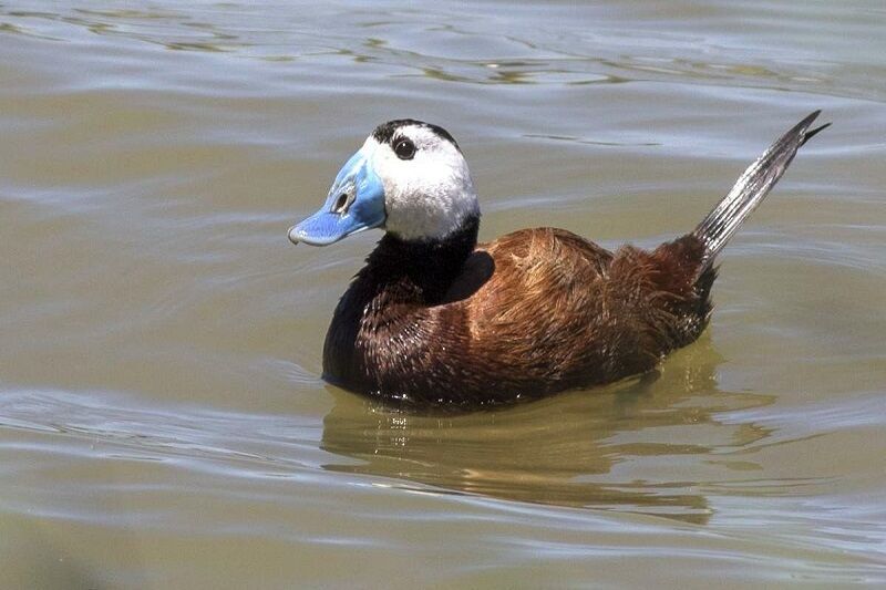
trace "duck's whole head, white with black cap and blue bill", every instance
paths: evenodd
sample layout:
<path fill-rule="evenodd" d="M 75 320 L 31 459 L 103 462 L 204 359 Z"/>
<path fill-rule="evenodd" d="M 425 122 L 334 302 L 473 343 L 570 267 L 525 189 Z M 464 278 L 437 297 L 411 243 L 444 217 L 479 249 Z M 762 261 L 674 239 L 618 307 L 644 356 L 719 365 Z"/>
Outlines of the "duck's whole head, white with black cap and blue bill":
<path fill-rule="evenodd" d="M 375 127 L 336 176 L 319 211 L 289 229 L 327 246 L 372 228 L 409 241 L 444 240 L 480 215 L 467 163 L 443 128 L 413 120 Z"/>

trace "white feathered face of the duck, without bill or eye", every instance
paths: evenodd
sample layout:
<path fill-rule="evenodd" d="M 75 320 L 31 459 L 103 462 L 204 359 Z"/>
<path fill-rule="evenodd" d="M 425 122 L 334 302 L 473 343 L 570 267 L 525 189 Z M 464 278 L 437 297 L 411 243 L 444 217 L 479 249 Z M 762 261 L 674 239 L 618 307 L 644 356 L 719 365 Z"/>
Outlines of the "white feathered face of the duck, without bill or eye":
<path fill-rule="evenodd" d="M 402 159 L 392 146 L 404 139 L 414 155 Z M 363 145 L 384 185 L 384 228 L 406 240 L 442 239 L 480 215 L 471 173 L 462 153 L 434 131 L 399 127 L 391 145 L 370 136 Z"/>

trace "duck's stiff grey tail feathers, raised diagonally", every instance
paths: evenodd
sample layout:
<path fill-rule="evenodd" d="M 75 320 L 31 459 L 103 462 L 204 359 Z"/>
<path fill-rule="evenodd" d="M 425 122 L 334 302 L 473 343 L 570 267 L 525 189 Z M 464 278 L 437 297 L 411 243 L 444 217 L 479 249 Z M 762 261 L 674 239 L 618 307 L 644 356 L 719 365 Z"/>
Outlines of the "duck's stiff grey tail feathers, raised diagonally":
<path fill-rule="evenodd" d="M 779 137 L 769 149 L 751 164 L 742 174 L 732 190 L 723 197 L 708 217 L 692 231 L 704 245 L 704 256 L 698 269 L 701 276 L 713 263 L 713 259 L 735 234 L 744 219 L 751 215 L 769 194 L 787 165 L 794 159 L 796 151 L 810 138 L 831 123 L 810 130 L 821 111 L 815 111 L 797 123 L 791 131 Z"/>

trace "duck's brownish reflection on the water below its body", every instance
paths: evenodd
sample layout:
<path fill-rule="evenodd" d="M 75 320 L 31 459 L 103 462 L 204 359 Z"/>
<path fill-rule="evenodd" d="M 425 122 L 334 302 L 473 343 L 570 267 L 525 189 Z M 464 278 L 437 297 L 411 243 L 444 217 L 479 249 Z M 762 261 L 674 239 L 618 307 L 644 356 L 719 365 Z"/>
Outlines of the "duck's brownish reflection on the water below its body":
<path fill-rule="evenodd" d="M 769 434 L 718 414 L 772 401 L 720 391 L 719 362 L 702 337 L 640 381 L 455 417 L 391 413 L 330 387 L 336 405 L 323 421 L 322 447 L 358 460 L 326 468 L 704 524 L 711 466 L 730 468 L 717 455 Z M 754 467 L 741 462 L 742 469 Z"/>

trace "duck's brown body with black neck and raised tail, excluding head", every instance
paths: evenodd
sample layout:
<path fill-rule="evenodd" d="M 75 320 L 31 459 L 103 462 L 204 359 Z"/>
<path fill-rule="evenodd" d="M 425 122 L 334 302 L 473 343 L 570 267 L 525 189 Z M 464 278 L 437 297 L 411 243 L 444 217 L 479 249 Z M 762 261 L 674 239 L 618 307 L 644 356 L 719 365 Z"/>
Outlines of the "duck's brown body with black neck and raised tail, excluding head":
<path fill-rule="evenodd" d="M 333 383 L 404 407 L 472 410 L 649 371 L 711 313 L 714 256 L 821 128 L 780 138 L 693 231 L 610 252 L 563 229 L 476 244 L 389 232 L 339 302 L 323 350 Z"/>

